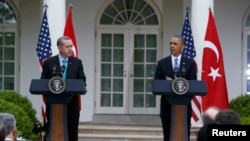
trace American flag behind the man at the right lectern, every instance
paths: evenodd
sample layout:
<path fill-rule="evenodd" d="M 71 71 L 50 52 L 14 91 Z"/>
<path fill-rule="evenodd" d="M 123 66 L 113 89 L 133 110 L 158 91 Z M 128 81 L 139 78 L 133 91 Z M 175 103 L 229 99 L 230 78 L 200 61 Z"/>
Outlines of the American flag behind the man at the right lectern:
<path fill-rule="evenodd" d="M 194 47 L 194 40 L 193 40 L 193 35 L 192 35 L 192 30 L 191 26 L 189 23 L 189 15 L 188 15 L 188 10 L 186 12 L 186 17 L 181 33 L 182 37 L 185 39 L 185 44 L 186 47 L 184 48 L 182 55 L 187 58 L 191 58 L 195 60 L 196 57 L 196 51 Z M 192 118 L 191 118 L 191 123 L 195 124 L 199 119 L 201 119 L 201 97 L 200 96 L 195 96 L 192 99 Z"/>

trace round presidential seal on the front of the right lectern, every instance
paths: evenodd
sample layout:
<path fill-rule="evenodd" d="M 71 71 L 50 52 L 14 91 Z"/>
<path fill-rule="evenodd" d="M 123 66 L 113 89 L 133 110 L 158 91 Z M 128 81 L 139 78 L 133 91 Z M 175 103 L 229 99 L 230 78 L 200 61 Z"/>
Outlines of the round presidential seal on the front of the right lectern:
<path fill-rule="evenodd" d="M 187 79 L 183 77 L 178 77 L 172 82 L 172 90 L 175 94 L 184 95 L 189 90 L 189 83 Z"/>

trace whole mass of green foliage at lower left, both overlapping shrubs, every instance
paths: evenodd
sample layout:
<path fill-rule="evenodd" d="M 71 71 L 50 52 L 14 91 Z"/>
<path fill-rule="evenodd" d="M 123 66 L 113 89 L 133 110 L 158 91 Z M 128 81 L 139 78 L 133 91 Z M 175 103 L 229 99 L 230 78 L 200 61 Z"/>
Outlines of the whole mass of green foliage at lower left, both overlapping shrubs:
<path fill-rule="evenodd" d="M 27 97 L 14 91 L 0 92 L 0 112 L 15 115 L 18 132 L 26 139 L 35 139 L 32 129 L 36 122 L 36 111 Z"/>

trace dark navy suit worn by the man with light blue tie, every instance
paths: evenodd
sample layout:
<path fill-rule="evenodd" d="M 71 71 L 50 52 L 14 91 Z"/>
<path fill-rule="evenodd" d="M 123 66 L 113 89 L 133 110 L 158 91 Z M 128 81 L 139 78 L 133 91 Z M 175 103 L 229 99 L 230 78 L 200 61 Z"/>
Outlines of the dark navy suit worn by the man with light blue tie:
<path fill-rule="evenodd" d="M 59 56 L 53 56 L 44 61 L 43 71 L 41 79 L 50 79 L 54 76 L 53 69 L 60 70 Z M 82 79 L 86 86 L 86 76 L 83 70 L 82 61 L 76 57 L 69 57 L 67 64 L 66 79 Z M 49 130 L 49 118 L 50 118 L 50 105 L 46 104 L 46 115 L 48 122 L 46 123 L 47 130 Z M 79 103 L 78 95 L 72 96 L 67 104 L 67 123 L 68 123 L 68 138 L 69 141 L 78 140 L 78 124 L 79 124 Z"/>

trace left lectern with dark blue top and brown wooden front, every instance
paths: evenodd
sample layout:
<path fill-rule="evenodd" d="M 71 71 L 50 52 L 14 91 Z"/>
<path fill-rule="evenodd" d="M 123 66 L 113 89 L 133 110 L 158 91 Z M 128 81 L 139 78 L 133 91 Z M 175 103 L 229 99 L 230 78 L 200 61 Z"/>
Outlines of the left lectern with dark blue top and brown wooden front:
<path fill-rule="evenodd" d="M 52 93 L 48 79 L 32 79 L 30 93 L 44 95 L 50 107 L 50 125 L 48 141 L 68 141 L 67 103 L 73 95 L 86 94 L 85 84 L 81 79 L 66 79 L 65 90 L 60 94 Z"/>

